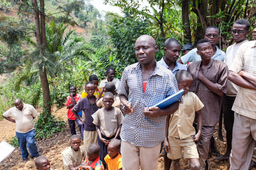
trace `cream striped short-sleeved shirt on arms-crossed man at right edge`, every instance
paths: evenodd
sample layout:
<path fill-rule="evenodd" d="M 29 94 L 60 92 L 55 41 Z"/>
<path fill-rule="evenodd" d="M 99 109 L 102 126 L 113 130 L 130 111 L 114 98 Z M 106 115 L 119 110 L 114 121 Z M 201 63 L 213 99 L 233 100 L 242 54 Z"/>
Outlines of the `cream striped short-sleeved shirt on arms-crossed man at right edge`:
<path fill-rule="evenodd" d="M 256 76 L 256 41 L 243 43 L 233 60 L 230 71 L 243 70 Z M 239 87 L 232 110 L 236 113 L 256 119 L 256 90 Z"/>

